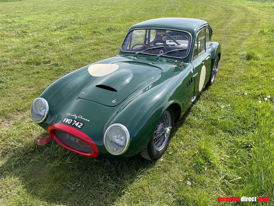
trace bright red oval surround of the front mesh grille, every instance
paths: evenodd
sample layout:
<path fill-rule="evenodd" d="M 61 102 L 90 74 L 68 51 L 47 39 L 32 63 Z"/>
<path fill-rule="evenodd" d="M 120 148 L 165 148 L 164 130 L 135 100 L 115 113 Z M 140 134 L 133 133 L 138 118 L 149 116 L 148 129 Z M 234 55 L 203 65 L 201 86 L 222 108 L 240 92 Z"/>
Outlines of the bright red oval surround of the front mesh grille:
<path fill-rule="evenodd" d="M 73 147 L 68 146 L 67 144 L 63 143 L 61 140 L 59 140 L 59 138 L 56 136 L 55 134 L 55 130 L 60 130 L 62 132 L 68 133 L 72 136 L 77 137 L 78 139 L 84 141 L 85 143 L 87 143 L 92 149 L 93 152 L 87 153 L 87 152 L 82 152 L 79 151 Z M 60 144 L 62 147 L 65 147 L 66 149 L 75 152 L 79 155 L 83 155 L 86 157 L 98 157 L 98 148 L 96 146 L 96 144 L 94 143 L 94 141 L 85 133 L 72 128 L 70 126 L 64 125 L 64 124 L 52 124 L 48 127 L 48 133 L 50 133 L 50 136 L 58 143 Z"/>

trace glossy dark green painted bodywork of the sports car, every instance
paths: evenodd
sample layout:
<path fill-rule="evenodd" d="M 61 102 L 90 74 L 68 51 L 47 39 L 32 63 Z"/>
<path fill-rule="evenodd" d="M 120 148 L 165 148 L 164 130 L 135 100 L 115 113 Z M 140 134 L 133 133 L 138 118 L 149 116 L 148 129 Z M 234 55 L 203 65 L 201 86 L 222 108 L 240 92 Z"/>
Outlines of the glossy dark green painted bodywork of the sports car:
<path fill-rule="evenodd" d="M 192 35 L 191 48 L 195 41 L 196 32 L 201 27 L 209 26 L 205 21 L 186 18 L 162 18 L 149 20 L 132 26 L 139 28 L 163 28 L 187 31 Z M 194 40 L 193 40 L 194 39 Z M 197 64 L 192 59 L 193 50 L 183 59 L 160 57 L 119 51 L 115 57 L 101 60 L 93 64 L 117 64 L 119 68 L 108 75 L 93 77 L 88 72 L 90 65 L 77 69 L 53 82 L 39 96 L 47 100 L 49 105 L 48 117 L 41 127 L 47 130 L 54 123 L 61 123 L 67 113 L 81 115 L 89 119 L 81 132 L 87 134 L 98 147 L 99 158 L 123 158 L 140 153 L 149 143 L 150 137 L 162 113 L 172 106 L 181 117 L 192 103 L 195 88 L 195 68 Z M 209 67 L 206 71 L 206 81 L 213 63 L 220 55 L 221 47 L 217 42 L 210 43 L 206 54 L 210 55 Z M 198 58 L 199 59 L 199 58 Z M 183 61 L 182 67 L 179 67 Z M 199 60 L 200 61 L 200 60 Z M 196 65 L 198 66 L 198 65 Z M 192 73 L 192 71 L 193 73 Z M 128 81 L 128 79 L 130 79 Z M 186 84 L 189 84 L 186 89 Z M 196 79 L 196 80 L 195 80 Z M 100 83 L 101 82 L 101 83 Z M 109 91 L 95 87 L 98 84 L 108 85 L 117 91 Z M 85 95 L 81 95 L 82 92 Z M 112 101 L 116 99 L 115 103 Z M 111 155 L 104 146 L 104 133 L 107 127 L 114 123 L 123 124 L 130 133 L 130 144 L 122 155 Z M 61 123 L 62 124 L 62 123 Z"/>

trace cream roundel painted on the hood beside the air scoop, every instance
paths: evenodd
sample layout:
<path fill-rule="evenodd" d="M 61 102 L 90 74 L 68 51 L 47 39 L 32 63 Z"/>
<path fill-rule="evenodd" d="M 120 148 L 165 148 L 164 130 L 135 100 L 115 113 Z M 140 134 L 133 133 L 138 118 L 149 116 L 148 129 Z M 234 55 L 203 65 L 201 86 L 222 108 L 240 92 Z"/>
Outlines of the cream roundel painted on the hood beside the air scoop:
<path fill-rule="evenodd" d="M 116 71 L 118 67 L 117 64 L 93 64 L 89 66 L 88 71 L 94 77 L 101 77 Z"/>

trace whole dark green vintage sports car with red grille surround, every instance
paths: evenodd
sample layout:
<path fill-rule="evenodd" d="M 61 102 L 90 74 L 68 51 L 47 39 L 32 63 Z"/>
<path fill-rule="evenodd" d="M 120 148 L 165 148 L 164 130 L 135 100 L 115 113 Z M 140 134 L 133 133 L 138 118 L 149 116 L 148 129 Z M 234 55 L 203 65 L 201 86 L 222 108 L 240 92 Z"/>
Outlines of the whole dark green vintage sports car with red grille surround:
<path fill-rule="evenodd" d="M 160 158 L 174 123 L 218 72 L 221 46 L 206 21 L 158 18 L 130 27 L 115 57 L 48 86 L 30 115 L 55 140 L 86 157 Z"/>

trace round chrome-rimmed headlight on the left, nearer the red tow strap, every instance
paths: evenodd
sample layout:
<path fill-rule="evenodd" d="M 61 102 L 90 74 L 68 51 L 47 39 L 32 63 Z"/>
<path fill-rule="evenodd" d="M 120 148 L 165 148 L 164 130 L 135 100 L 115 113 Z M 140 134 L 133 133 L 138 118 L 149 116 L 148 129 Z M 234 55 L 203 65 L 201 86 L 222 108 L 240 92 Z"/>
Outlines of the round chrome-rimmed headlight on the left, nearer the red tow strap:
<path fill-rule="evenodd" d="M 40 97 L 33 100 L 30 106 L 30 116 L 36 123 L 45 121 L 48 116 L 48 102 Z"/>

